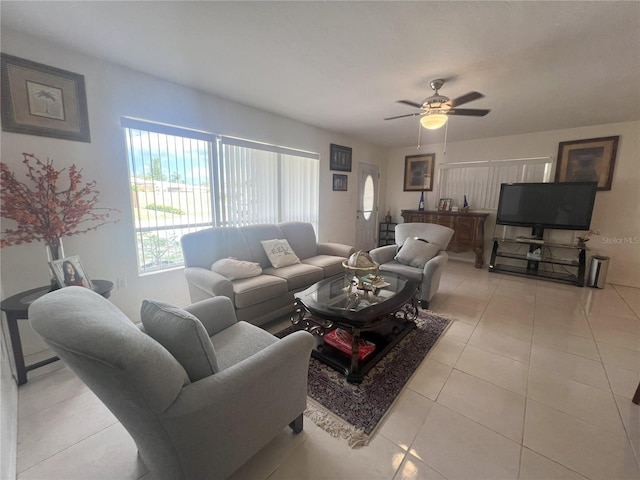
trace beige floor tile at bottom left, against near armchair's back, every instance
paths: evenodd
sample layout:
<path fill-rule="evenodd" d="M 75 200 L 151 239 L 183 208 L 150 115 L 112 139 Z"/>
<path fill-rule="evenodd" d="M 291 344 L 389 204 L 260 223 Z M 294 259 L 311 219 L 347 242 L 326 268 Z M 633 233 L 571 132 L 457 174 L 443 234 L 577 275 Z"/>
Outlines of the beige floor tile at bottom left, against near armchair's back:
<path fill-rule="evenodd" d="M 19 480 L 135 480 L 147 472 L 129 433 L 115 423 L 18 475 Z"/>

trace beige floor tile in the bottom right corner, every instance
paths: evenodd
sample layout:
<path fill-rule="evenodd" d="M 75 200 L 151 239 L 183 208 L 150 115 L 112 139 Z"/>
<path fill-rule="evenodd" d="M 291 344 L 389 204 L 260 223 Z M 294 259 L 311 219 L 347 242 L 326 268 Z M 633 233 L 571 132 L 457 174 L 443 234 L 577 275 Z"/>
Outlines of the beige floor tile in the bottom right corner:
<path fill-rule="evenodd" d="M 628 439 L 527 400 L 524 446 L 593 480 L 640 478 Z"/>

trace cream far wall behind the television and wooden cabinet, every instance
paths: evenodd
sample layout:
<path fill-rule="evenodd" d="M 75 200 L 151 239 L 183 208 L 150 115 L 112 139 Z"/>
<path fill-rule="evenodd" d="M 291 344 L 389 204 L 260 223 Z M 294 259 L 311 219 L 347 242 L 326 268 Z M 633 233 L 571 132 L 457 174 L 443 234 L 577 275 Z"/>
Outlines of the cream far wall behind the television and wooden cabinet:
<path fill-rule="evenodd" d="M 481 119 L 478 121 L 482 121 Z M 455 118 L 450 129 L 455 128 Z M 640 287 L 640 122 L 626 122 L 593 127 L 555 130 L 549 132 L 512 135 L 487 138 L 467 142 L 449 143 L 446 155 L 443 144 L 432 143 L 416 147 L 393 149 L 389 154 L 386 168 L 386 204 L 380 205 L 386 211 L 391 209 L 395 221 L 402 221 L 400 211 L 416 209 L 420 194 L 403 192 L 404 157 L 419 153 L 436 154 L 435 182 L 438 179 L 438 164 L 468 162 L 476 160 L 499 160 L 523 157 L 555 157 L 558 143 L 585 138 L 609 137 L 619 135 L 618 153 L 610 191 L 600 191 L 596 195 L 592 230 L 599 230 L 600 236 L 592 236 L 588 243 L 589 255 L 611 257 L 607 281 L 619 285 Z M 444 132 L 438 130 L 429 133 L 429 139 L 443 138 Z M 423 137 L 424 140 L 424 137 Z M 437 204 L 436 186 L 426 195 L 426 208 L 433 209 Z M 473 198 L 469 199 L 473 208 Z M 491 252 L 491 238 L 495 225 L 495 211 L 485 224 L 485 263 Z M 560 234 L 560 232 L 556 232 Z M 572 238 L 572 236 L 571 236 Z M 452 255 L 466 260 L 472 254 Z"/>

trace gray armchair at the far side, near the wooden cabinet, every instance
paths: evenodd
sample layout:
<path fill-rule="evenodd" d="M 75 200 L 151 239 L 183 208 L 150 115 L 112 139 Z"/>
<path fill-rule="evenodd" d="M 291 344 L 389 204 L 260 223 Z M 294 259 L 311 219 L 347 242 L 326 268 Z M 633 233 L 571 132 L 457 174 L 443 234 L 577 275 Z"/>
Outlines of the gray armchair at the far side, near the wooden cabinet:
<path fill-rule="evenodd" d="M 400 223 L 396 225 L 396 245 L 374 248 L 371 258 L 380 264 L 380 271 L 393 272 L 421 282 L 418 300 L 422 308 L 429 308 L 429 302 L 438 291 L 440 277 L 449 259 L 445 252 L 454 230 L 433 223 Z M 407 239 L 412 239 L 407 242 Z M 405 243 L 415 243 L 411 251 L 403 251 Z M 411 248 L 409 245 L 405 249 Z M 426 251 L 421 251 L 422 248 Z"/>

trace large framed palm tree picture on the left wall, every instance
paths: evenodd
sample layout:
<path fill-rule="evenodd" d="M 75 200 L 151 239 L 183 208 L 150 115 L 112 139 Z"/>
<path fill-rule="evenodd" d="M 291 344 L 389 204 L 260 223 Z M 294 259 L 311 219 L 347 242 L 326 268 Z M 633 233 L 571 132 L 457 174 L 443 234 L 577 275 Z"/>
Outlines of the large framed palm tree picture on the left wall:
<path fill-rule="evenodd" d="M 84 76 L 2 54 L 2 129 L 91 142 Z"/>

